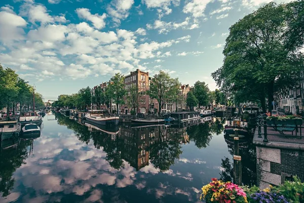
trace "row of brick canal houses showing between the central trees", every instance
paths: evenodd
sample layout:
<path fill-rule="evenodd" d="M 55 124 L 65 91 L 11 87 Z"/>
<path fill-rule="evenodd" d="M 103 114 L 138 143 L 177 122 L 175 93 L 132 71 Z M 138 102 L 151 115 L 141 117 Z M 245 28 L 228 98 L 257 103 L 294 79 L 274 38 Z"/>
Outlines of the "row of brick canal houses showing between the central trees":
<path fill-rule="evenodd" d="M 151 78 L 149 77 L 148 72 L 143 72 L 137 69 L 134 72 L 130 72 L 129 75 L 125 76 L 125 89 L 129 90 L 133 86 L 138 87 L 139 91 L 139 98 L 138 98 L 138 107 L 136 109 L 136 113 L 153 113 L 158 112 L 159 104 L 156 99 L 151 99 L 146 91 L 149 89 Z M 99 85 L 102 89 L 102 91 L 105 91 L 105 88 L 107 87 L 107 83 L 101 83 Z M 92 88 L 92 94 L 95 94 L 95 90 L 98 86 L 95 86 Z M 191 87 L 187 85 L 182 85 L 179 90 L 179 94 L 183 97 L 182 101 L 178 101 L 177 103 L 166 103 L 162 107 L 161 112 L 163 113 L 169 113 L 169 112 L 175 112 L 186 110 L 186 95 L 191 90 Z M 176 106 L 177 105 L 177 106 Z M 91 108 L 96 110 L 106 110 L 106 105 L 97 105 L 93 104 L 91 105 Z M 117 110 L 117 105 L 113 102 L 110 104 L 111 110 Z M 130 114 L 132 110 L 131 105 L 127 104 L 127 99 L 125 100 L 125 105 L 122 105 L 121 107 L 118 107 L 118 111 L 120 111 L 122 114 Z"/>

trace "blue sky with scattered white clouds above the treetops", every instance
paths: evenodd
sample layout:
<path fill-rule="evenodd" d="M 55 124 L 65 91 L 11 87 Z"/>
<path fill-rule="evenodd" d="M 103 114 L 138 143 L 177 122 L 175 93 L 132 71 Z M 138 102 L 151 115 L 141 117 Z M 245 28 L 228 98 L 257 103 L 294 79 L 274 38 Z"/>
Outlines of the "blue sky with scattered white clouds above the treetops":
<path fill-rule="evenodd" d="M 0 63 L 45 100 L 136 69 L 214 90 L 229 27 L 269 2 L 1 0 Z"/>

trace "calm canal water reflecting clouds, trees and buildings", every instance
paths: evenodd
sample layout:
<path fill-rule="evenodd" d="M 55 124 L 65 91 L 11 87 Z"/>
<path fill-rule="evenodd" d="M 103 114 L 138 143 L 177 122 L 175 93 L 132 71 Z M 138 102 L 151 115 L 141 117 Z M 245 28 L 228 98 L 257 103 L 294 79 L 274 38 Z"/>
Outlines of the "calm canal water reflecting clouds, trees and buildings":
<path fill-rule="evenodd" d="M 220 119 L 186 125 L 46 115 L 39 138 L 2 144 L 0 202 L 197 202 L 211 178 L 231 180 L 233 144 Z M 244 184 L 256 184 L 254 149 L 241 144 Z"/>

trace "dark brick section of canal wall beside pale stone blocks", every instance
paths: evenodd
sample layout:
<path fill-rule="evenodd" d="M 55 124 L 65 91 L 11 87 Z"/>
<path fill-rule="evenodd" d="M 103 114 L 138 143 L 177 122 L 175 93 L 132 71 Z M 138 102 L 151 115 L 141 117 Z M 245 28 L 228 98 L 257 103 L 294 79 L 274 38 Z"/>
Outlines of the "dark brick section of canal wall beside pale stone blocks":
<path fill-rule="evenodd" d="M 304 152 L 281 149 L 281 164 L 270 162 L 270 172 L 297 176 L 304 181 Z"/>

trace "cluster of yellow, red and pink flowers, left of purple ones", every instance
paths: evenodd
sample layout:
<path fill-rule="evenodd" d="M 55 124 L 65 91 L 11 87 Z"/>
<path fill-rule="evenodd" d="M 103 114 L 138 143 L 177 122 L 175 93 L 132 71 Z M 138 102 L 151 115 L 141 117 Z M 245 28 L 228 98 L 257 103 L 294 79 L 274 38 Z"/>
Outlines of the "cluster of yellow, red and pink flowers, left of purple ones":
<path fill-rule="evenodd" d="M 237 203 L 248 202 L 244 190 L 236 184 L 231 182 L 222 182 L 216 178 L 211 179 L 208 185 L 202 187 L 202 197 L 206 202 L 219 202 L 219 203 Z"/>

